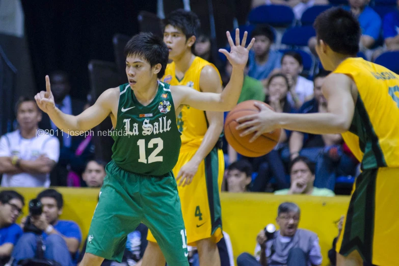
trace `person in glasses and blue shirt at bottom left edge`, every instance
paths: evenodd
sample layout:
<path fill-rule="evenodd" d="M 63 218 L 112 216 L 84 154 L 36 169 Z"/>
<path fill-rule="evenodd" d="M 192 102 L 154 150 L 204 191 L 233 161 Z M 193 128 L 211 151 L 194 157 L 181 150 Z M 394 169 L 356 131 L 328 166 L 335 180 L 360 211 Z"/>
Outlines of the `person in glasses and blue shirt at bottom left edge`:
<path fill-rule="evenodd" d="M 15 223 L 22 213 L 25 200 L 13 190 L 0 192 L 0 265 L 4 265 L 11 256 L 11 252 L 22 229 Z"/>

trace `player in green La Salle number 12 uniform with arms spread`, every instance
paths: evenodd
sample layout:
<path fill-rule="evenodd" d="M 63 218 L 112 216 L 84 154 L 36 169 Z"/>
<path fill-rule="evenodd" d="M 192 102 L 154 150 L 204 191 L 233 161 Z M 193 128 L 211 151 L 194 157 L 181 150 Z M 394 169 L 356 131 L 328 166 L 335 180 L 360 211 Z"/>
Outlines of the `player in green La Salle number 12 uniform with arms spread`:
<path fill-rule="evenodd" d="M 94 105 L 78 116 L 55 107 L 50 83 L 35 96 L 39 108 L 63 132 L 75 136 L 111 116 L 112 161 L 100 191 L 81 266 L 100 265 L 104 258 L 121 261 L 126 236 L 143 222 L 153 233 L 169 265 L 188 266 L 187 234 L 172 169 L 181 145 L 176 113 L 182 105 L 203 111 L 231 110 L 240 97 L 244 67 L 254 40 L 245 47 L 227 32 L 231 51 L 220 49 L 233 66 L 222 93 L 205 93 L 186 86 L 159 82 L 165 73 L 169 50 L 151 33 L 132 37 L 125 47 L 129 83 L 104 91 Z M 149 265 L 146 258 L 142 265 Z"/>

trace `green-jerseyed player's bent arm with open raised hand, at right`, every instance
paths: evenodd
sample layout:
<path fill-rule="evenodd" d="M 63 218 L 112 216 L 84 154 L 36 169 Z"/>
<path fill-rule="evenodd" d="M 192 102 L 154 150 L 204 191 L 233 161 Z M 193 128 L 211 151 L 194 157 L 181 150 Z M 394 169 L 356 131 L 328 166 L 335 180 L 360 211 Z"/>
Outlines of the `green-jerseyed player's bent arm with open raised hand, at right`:
<path fill-rule="evenodd" d="M 175 105 L 189 105 L 198 110 L 224 112 L 230 111 L 237 104 L 244 82 L 244 68 L 248 61 L 248 52 L 255 39 L 245 48 L 248 33 L 244 33 L 244 38 L 240 44 L 240 31 L 235 31 L 235 45 L 227 32 L 227 39 L 231 49 L 228 52 L 220 49 L 233 66 L 231 78 L 222 93 L 199 92 L 186 86 L 171 86 L 171 92 Z"/>

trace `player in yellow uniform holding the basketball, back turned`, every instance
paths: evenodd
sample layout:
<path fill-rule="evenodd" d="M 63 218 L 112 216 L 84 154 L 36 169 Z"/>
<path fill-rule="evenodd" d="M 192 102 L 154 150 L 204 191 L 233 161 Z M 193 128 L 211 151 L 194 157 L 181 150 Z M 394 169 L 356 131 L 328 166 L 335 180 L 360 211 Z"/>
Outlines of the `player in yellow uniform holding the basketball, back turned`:
<path fill-rule="evenodd" d="M 243 135 L 286 128 L 311 134 L 342 134 L 361 161 L 343 230 L 337 241 L 337 265 L 399 265 L 399 75 L 356 58 L 360 26 L 339 8 L 315 22 L 316 51 L 326 77 L 325 114 L 259 114 L 239 119 Z M 326 221 L 327 222 L 327 221 Z"/>

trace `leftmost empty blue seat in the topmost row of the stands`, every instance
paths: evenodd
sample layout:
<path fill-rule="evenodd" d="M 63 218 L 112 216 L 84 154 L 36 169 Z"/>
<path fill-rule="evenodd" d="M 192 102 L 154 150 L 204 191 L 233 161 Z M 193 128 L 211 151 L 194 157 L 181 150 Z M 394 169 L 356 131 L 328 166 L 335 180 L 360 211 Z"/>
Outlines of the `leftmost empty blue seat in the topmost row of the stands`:
<path fill-rule="evenodd" d="M 248 21 L 251 24 L 270 24 L 275 27 L 291 26 L 294 19 L 292 9 L 282 5 L 259 6 L 248 14 Z"/>

